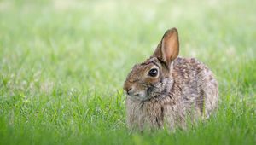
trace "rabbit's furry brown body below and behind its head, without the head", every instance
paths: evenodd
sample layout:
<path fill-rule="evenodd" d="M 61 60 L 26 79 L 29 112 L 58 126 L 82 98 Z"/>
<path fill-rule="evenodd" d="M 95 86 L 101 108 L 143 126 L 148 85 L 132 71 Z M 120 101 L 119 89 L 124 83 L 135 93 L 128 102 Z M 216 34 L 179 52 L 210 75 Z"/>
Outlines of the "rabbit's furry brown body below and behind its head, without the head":
<path fill-rule="evenodd" d="M 164 78 L 162 95 L 148 100 L 126 98 L 127 123 L 131 129 L 185 128 L 186 119 L 208 117 L 218 105 L 218 83 L 212 72 L 195 58 L 173 61 L 170 78 Z"/>

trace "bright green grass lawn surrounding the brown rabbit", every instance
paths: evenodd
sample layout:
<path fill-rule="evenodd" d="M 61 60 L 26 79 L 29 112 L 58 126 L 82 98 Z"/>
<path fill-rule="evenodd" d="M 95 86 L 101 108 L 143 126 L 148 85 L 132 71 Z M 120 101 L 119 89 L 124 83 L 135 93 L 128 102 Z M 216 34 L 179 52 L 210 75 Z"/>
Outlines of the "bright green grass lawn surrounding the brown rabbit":
<path fill-rule="evenodd" d="M 0 144 L 255 144 L 256 18 L 247 1 L 0 1 Z M 129 132 L 122 85 L 171 27 L 218 78 L 187 131 Z"/>

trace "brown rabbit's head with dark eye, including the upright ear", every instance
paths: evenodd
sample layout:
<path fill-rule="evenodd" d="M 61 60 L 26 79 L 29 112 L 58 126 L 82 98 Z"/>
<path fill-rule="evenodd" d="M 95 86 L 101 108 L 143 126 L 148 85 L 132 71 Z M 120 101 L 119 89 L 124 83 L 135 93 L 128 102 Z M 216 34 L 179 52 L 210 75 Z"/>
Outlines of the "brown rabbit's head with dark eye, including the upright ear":
<path fill-rule="evenodd" d="M 124 84 L 127 95 L 148 100 L 166 94 L 172 87 L 172 61 L 177 58 L 178 51 L 177 29 L 172 28 L 166 31 L 154 54 L 132 68 Z"/>

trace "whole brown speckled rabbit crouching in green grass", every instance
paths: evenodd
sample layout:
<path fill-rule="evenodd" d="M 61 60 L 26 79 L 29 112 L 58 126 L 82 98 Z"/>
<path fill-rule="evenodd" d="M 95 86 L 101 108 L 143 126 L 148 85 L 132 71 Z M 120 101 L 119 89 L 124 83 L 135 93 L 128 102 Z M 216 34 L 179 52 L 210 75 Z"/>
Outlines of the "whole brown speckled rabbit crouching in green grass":
<path fill-rule="evenodd" d="M 201 61 L 178 53 L 178 32 L 172 28 L 154 54 L 131 69 L 124 84 L 129 129 L 186 129 L 189 120 L 207 119 L 218 107 L 213 73 Z"/>

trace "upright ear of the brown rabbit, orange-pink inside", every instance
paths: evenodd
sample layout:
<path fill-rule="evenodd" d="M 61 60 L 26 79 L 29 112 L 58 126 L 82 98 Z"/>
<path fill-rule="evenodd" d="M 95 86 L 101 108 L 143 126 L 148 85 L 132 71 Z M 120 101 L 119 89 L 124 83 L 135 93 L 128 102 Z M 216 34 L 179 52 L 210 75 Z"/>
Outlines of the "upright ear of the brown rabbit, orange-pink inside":
<path fill-rule="evenodd" d="M 177 58 L 179 51 L 178 34 L 177 29 L 172 28 L 166 31 L 160 44 L 154 51 L 155 57 L 166 63 L 167 67 L 170 67 L 171 62 Z"/>

